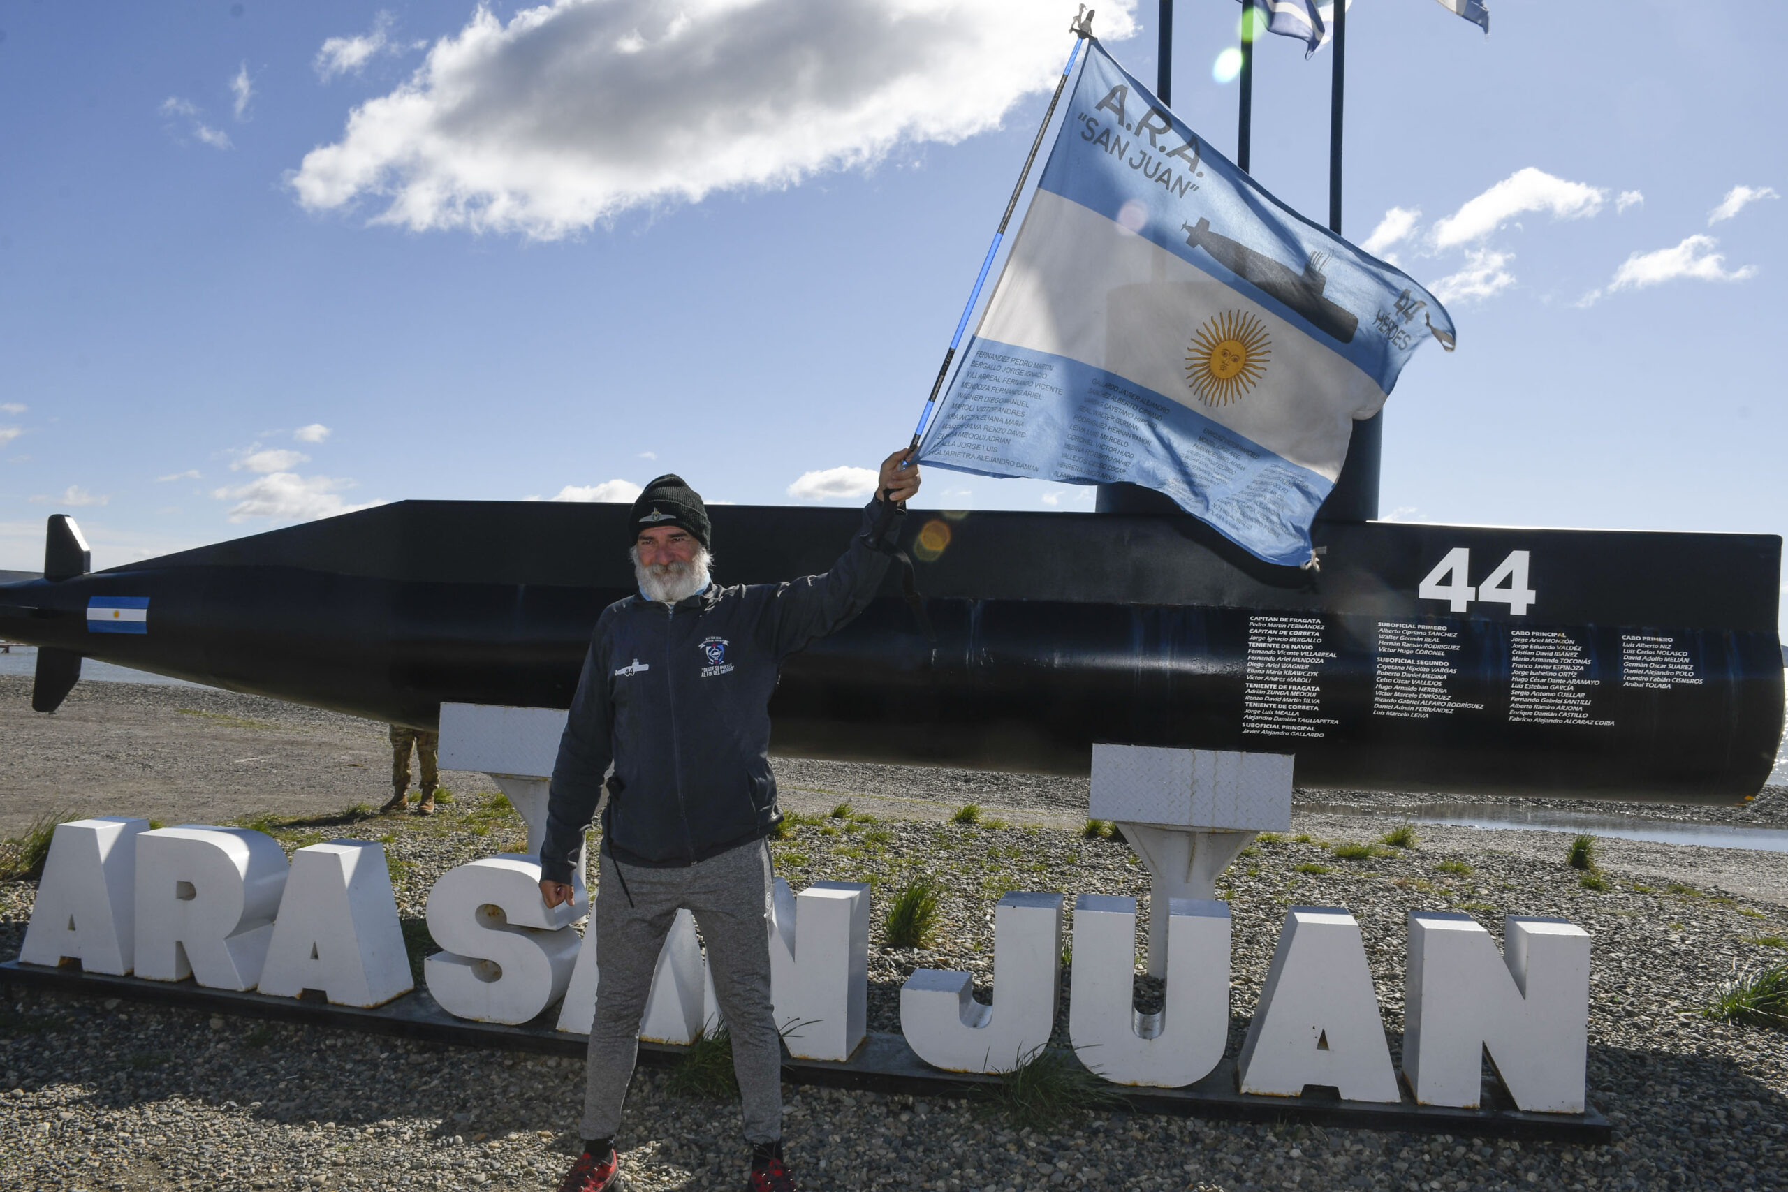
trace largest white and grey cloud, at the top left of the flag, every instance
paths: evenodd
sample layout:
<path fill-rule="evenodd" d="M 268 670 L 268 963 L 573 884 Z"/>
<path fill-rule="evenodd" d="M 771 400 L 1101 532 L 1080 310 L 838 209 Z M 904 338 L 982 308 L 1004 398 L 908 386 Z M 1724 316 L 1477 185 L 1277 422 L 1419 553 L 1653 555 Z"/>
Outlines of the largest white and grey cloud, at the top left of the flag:
<path fill-rule="evenodd" d="M 1107 41 L 1135 0 L 1100 5 Z M 1060 77 L 1035 0 L 551 0 L 479 7 L 290 184 L 313 211 L 552 239 L 631 207 L 781 188 L 955 143 Z M 333 59 L 331 59 L 333 61 Z"/>

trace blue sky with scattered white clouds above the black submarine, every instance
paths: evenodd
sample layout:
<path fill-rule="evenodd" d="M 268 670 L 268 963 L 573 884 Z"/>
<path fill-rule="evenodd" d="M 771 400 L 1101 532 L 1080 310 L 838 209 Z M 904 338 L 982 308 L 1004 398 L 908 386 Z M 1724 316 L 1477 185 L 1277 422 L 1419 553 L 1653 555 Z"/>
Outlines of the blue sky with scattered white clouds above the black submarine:
<path fill-rule="evenodd" d="M 1155 2 L 1100 9 L 1153 77 Z M 1071 11 L 0 0 L 0 567 L 57 511 L 104 567 L 663 470 L 830 491 L 905 445 Z M 1784 84 L 1743 13 L 1350 9 L 1346 234 L 1459 329 L 1386 407 L 1386 515 L 1788 525 Z M 1175 21 L 1223 152 L 1236 16 Z M 1327 50 L 1261 43 L 1253 173 L 1318 220 L 1327 95 Z M 1085 497 L 933 470 L 921 504 Z"/>

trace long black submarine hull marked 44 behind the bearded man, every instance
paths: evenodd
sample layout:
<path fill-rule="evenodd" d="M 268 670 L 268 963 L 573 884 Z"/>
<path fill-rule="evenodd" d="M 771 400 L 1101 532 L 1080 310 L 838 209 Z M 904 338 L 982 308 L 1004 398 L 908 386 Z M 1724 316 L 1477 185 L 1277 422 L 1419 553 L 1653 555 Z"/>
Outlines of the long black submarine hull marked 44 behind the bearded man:
<path fill-rule="evenodd" d="M 626 515 L 406 500 L 104 572 L 55 515 L 43 577 L 0 586 L 0 636 L 39 647 L 39 711 L 82 658 L 417 727 L 443 701 L 567 708 L 599 611 L 635 590 Z M 860 522 L 710 515 L 719 583 L 821 572 Z M 1314 541 L 1302 570 L 1180 513 L 912 511 L 930 633 L 890 568 L 787 659 L 772 749 L 1084 774 L 1114 742 L 1293 752 L 1303 788 L 1763 786 L 1781 538 L 1336 520 Z"/>

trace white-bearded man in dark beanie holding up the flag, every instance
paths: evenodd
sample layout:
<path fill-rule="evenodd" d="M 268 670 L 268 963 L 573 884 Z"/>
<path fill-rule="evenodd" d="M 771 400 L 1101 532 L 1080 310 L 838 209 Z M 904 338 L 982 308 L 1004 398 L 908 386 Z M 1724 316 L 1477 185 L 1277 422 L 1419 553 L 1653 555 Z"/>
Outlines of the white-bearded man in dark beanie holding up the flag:
<path fill-rule="evenodd" d="M 603 981 L 590 1026 L 585 1153 L 560 1192 L 620 1187 L 613 1135 L 653 969 L 678 908 L 696 913 L 733 1042 L 751 1144 L 747 1192 L 794 1192 L 781 1154 L 781 1038 L 771 1015 L 771 854 L 781 820 L 769 701 L 781 659 L 856 617 L 887 572 L 919 468 L 881 463 L 876 499 L 824 575 L 722 588 L 708 509 L 678 475 L 633 502 L 640 590 L 603 609 L 578 679 L 547 802 L 540 894 L 572 895 L 572 858 L 606 786 L 595 931 Z M 613 765 L 613 772 L 610 772 Z M 606 783 L 604 783 L 606 776 Z"/>

